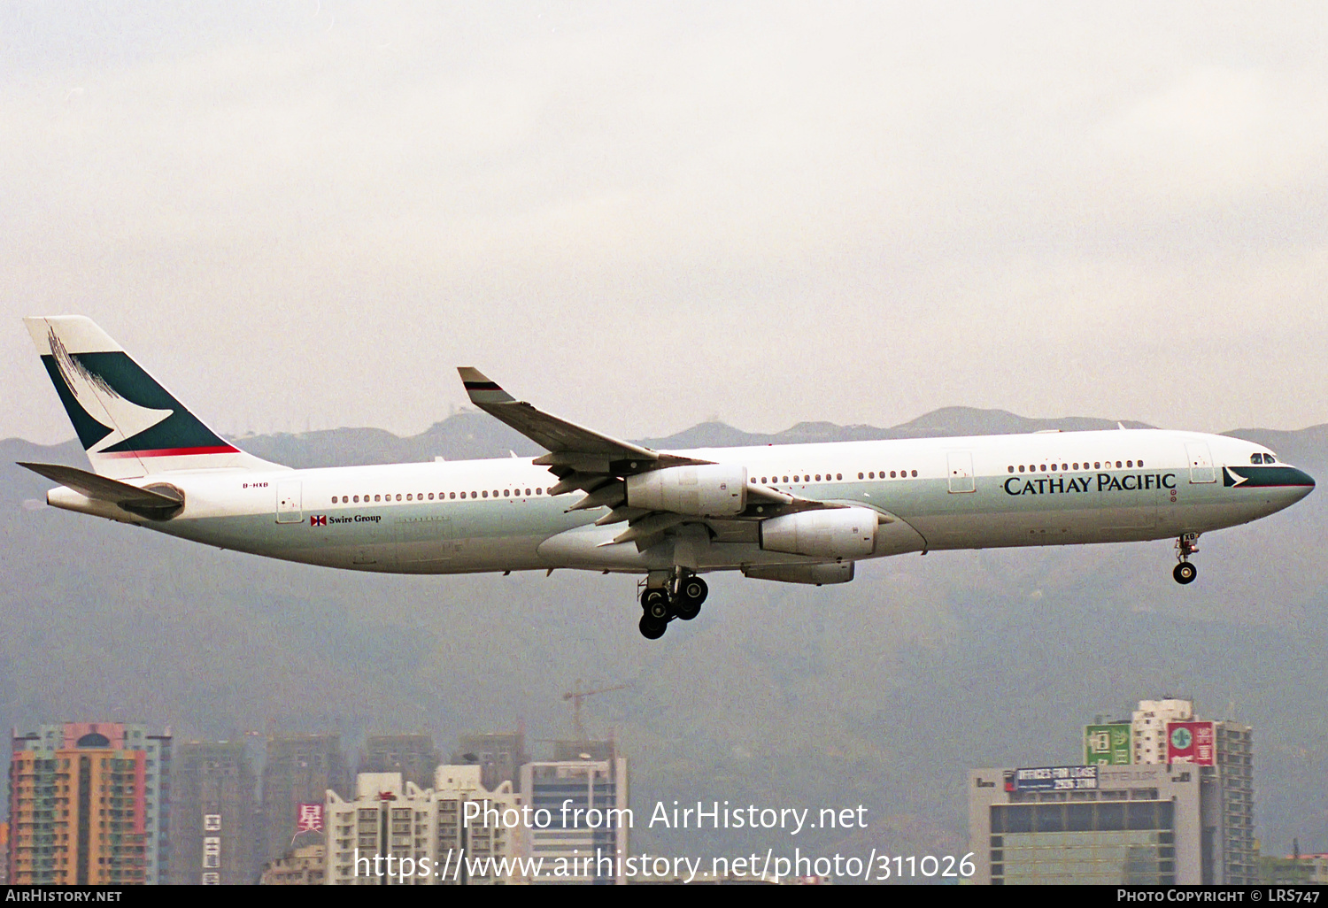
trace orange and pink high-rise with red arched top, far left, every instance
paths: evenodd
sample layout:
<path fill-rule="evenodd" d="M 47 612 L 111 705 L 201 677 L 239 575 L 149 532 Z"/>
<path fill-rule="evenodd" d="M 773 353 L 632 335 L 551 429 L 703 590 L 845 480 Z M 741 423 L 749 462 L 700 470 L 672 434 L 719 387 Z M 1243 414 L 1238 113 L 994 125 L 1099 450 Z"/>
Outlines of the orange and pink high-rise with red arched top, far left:
<path fill-rule="evenodd" d="M 9 757 L 9 883 L 165 883 L 171 737 L 65 722 L 20 734 Z"/>

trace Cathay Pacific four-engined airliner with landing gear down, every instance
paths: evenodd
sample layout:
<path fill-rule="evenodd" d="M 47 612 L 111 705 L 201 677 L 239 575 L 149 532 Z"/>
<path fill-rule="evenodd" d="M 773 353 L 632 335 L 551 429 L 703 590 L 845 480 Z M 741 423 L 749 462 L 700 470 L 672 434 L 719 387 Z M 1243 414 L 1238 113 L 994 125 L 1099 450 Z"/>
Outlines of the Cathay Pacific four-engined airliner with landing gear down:
<path fill-rule="evenodd" d="M 24 321 L 92 462 L 24 463 L 61 483 L 49 504 L 355 571 L 635 573 L 649 639 L 696 617 L 710 571 L 819 585 L 904 552 L 1175 538 L 1185 584 L 1199 534 L 1315 486 L 1262 445 L 1154 429 L 656 451 L 469 368 L 474 405 L 547 454 L 291 470 L 222 439 L 89 319 Z"/>

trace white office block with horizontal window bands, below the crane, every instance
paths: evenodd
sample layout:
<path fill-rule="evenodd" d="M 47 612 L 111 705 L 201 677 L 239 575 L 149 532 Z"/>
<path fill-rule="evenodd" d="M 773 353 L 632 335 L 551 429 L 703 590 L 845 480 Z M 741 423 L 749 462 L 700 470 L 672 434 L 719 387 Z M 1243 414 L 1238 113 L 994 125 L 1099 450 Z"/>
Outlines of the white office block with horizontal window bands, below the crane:
<path fill-rule="evenodd" d="M 582 753 L 599 751 L 579 742 Z M 606 742 L 599 742 L 600 745 Z M 526 763 L 521 795 L 531 811 L 548 811 L 551 823 L 526 830 L 526 854 L 538 860 L 539 883 L 625 883 L 628 824 L 627 758 L 610 747 L 607 759 Z"/>

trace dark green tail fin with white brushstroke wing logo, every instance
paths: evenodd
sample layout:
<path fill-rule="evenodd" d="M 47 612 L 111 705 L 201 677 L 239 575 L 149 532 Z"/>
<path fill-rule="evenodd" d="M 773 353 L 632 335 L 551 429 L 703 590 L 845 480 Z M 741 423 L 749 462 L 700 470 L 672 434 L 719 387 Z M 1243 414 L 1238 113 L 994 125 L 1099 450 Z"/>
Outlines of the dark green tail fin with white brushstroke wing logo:
<path fill-rule="evenodd" d="M 279 469 L 203 425 L 92 319 L 23 321 L 97 475 Z"/>

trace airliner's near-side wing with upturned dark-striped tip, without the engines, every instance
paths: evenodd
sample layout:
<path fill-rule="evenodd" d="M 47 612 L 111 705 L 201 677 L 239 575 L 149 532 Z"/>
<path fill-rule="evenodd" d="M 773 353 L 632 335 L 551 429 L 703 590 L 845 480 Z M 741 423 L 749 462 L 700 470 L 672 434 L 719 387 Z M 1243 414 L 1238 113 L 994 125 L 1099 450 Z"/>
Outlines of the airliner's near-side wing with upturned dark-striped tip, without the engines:
<path fill-rule="evenodd" d="M 548 450 L 548 454 L 537 457 L 535 463 L 547 466 L 550 473 L 558 477 L 558 483 L 548 489 L 550 495 L 580 489 L 586 496 L 567 510 L 607 507 L 610 512 L 596 520 L 596 524 L 628 522 L 628 527 L 614 539 L 615 543 L 635 542 L 644 550 L 681 523 L 704 522 L 703 518 L 691 515 L 628 507 L 623 481 L 625 477 L 652 470 L 703 466 L 713 461 L 656 451 L 603 435 L 518 401 L 478 369 L 461 366 L 457 372 L 461 373 L 461 381 L 471 404 Z M 750 482 L 746 486 L 746 498 L 752 516 L 762 518 L 793 511 L 843 507 Z"/>

